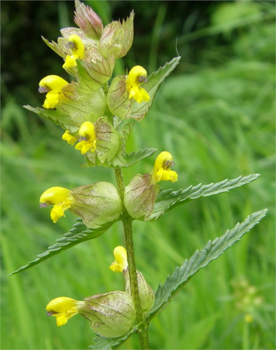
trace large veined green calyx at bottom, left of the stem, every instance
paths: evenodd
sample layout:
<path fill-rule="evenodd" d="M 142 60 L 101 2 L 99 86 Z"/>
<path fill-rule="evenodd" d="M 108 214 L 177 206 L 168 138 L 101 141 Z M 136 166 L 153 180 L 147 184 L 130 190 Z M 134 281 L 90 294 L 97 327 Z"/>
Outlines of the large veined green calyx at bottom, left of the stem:
<path fill-rule="evenodd" d="M 99 336 L 117 338 L 124 336 L 135 320 L 135 305 L 124 291 L 111 291 L 85 298 L 86 307 L 79 314 L 90 321 L 90 326 Z"/>

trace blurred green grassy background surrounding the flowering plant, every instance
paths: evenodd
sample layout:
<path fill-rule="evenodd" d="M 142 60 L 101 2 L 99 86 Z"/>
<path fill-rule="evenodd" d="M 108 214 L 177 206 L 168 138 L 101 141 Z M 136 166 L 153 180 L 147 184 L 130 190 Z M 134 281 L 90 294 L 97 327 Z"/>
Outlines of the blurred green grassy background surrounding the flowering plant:
<path fill-rule="evenodd" d="M 181 55 L 128 151 L 168 150 L 179 174 L 165 188 L 259 173 L 233 192 L 177 207 L 156 223 L 134 223 L 137 268 L 153 289 L 209 239 L 248 214 L 268 214 L 239 243 L 186 285 L 149 327 L 152 349 L 275 349 L 275 2 L 85 1 L 104 24 L 135 10 L 135 39 L 115 74 L 150 74 Z M 57 328 L 49 300 L 124 289 L 108 268 L 124 245 L 121 223 L 32 269 L 7 274 L 46 251 L 75 223 L 56 224 L 39 197 L 52 186 L 115 183 L 112 170 L 81 168 L 63 131 L 22 105 L 41 106 L 46 75 L 70 79 L 41 40 L 76 26 L 73 1 L 1 1 L 1 349 L 87 349 L 95 333 L 80 316 Z M 126 183 L 150 172 L 155 156 L 124 169 Z M 253 322 L 244 316 L 250 313 Z M 139 349 L 136 336 L 123 349 Z"/>

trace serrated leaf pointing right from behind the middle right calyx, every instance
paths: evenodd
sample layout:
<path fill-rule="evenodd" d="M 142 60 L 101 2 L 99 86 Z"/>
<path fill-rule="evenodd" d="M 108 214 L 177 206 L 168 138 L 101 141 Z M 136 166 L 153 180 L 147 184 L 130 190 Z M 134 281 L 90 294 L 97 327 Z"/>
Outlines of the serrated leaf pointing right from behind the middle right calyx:
<path fill-rule="evenodd" d="M 153 208 L 152 214 L 146 221 L 155 221 L 164 215 L 169 210 L 194 200 L 200 197 L 213 196 L 213 194 L 220 194 L 228 192 L 231 189 L 246 185 L 252 181 L 255 181 L 260 174 L 250 174 L 248 176 L 239 176 L 233 180 L 221 181 L 220 183 L 210 183 L 209 185 L 190 185 L 186 189 L 179 189 L 174 191 L 173 189 L 166 189 L 161 191 L 157 196 L 155 207 Z"/>

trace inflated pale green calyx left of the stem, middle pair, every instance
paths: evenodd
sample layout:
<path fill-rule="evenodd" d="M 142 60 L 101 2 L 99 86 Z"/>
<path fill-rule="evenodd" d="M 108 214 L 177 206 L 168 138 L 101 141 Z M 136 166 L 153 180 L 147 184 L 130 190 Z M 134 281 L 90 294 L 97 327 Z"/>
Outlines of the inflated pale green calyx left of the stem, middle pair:
<path fill-rule="evenodd" d="M 70 193 L 75 198 L 70 212 L 80 216 L 87 227 L 97 228 L 119 219 L 121 198 L 111 183 L 99 182 L 80 186 Z"/>

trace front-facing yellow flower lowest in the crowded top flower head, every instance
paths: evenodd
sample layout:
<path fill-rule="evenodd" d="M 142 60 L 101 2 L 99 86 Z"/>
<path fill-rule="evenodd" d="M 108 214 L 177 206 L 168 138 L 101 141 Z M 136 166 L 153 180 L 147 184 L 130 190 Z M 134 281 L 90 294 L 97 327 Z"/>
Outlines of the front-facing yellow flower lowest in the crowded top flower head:
<path fill-rule="evenodd" d="M 89 150 L 94 152 L 96 150 L 96 134 L 94 125 L 90 121 L 85 121 L 79 128 L 79 143 L 75 145 L 76 150 L 80 150 L 81 154 L 85 154 Z"/>

